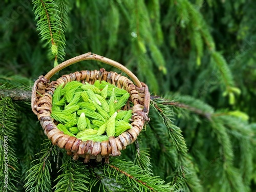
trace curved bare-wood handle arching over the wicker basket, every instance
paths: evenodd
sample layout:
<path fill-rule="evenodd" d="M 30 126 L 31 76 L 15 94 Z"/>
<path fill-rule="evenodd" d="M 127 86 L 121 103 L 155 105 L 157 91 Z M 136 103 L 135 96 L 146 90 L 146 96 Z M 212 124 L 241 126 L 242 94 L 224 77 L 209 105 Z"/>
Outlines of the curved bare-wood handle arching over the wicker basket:
<path fill-rule="evenodd" d="M 126 73 L 129 77 L 131 77 L 131 79 L 135 82 L 136 86 L 139 87 L 139 88 L 142 88 L 142 84 L 141 82 L 139 81 L 139 79 L 129 70 L 127 69 L 126 67 L 124 67 L 123 65 L 121 65 L 121 63 L 117 62 L 117 61 L 114 61 L 112 59 L 109 59 L 109 58 L 106 58 L 106 57 L 103 57 L 103 56 L 100 56 L 100 55 L 97 55 L 97 54 L 94 54 L 92 52 L 88 52 L 88 53 L 84 53 L 82 55 L 79 55 L 79 56 L 76 56 L 76 57 L 73 57 L 69 60 L 66 60 L 62 63 L 60 63 L 58 66 L 56 66 L 55 68 L 53 68 L 51 71 L 49 71 L 46 75 L 45 75 L 45 78 L 50 80 L 50 78 L 56 74 L 57 72 L 59 72 L 60 70 L 68 67 L 68 66 L 71 66 L 73 65 L 74 63 L 76 62 L 79 62 L 79 61 L 83 61 L 83 60 L 97 60 L 97 61 L 100 61 L 100 62 L 104 62 L 108 65 L 111 65 L 113 67 L 116 67 L 118 69 L 120 69 L 122 72 Z"/>

